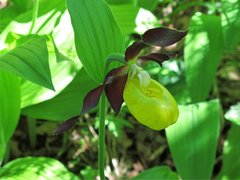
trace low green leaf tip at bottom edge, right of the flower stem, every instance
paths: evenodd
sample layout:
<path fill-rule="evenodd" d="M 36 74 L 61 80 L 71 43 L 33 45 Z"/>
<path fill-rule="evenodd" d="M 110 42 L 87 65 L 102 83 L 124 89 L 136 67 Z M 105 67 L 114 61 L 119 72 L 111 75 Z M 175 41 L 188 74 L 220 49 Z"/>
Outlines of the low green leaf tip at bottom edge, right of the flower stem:
<path fill-rule="evenodd" d="M 151 169 L 143 171 L 141 174 L 132 178 L 132 180 L 147 180 L 147 179 L 164 179 L 173 180 L 179 179 L 177 174 L 173 172 L 168 166 L 156 166 Z"/>

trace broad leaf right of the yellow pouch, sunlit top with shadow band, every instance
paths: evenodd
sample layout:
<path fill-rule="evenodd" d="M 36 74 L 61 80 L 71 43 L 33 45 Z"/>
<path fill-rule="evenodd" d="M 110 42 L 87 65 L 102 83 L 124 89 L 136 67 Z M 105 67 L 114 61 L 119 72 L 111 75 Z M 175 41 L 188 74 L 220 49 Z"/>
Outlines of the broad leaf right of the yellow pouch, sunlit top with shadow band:
<path fill-rule="evenodd" d="M 179 108 L 178 121 L 166 129 L 177 172 L 182 179 L 210 179 L 220 131 L 219 101 Z"/>

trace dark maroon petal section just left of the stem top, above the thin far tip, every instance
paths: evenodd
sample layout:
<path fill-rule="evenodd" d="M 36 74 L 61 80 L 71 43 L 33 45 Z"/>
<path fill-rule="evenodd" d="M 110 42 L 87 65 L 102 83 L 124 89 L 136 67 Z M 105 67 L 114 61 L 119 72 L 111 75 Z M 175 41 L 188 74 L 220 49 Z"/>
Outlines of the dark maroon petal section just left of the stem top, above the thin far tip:
<path fill-rule="evenodd" d="M 103 89 L 104 85 L 100 85 L 88 92 L 83 101 L 83 108 L 81 114 L 84 114 L 88 112 L 90 109 L 97 106 L 100 96 L 103 92 Z"/>

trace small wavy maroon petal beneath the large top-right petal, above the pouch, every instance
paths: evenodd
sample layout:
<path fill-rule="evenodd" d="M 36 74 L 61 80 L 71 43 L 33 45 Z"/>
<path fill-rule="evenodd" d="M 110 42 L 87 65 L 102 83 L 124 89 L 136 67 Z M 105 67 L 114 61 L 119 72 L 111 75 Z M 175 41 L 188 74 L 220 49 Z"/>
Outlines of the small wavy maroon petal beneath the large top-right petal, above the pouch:
<path fill-rule="evenodd" d="M 167 55 L 159 54 L 159 53 L 151 53 L 146 56 L 139 56 L 138 58 L 139 58 L 138 61 L 140 61 L 140 63 L 146 62 L 146 61 L 155 61 L 160 65 L 162 65 L 164 61 L 169 59 Z"/>

